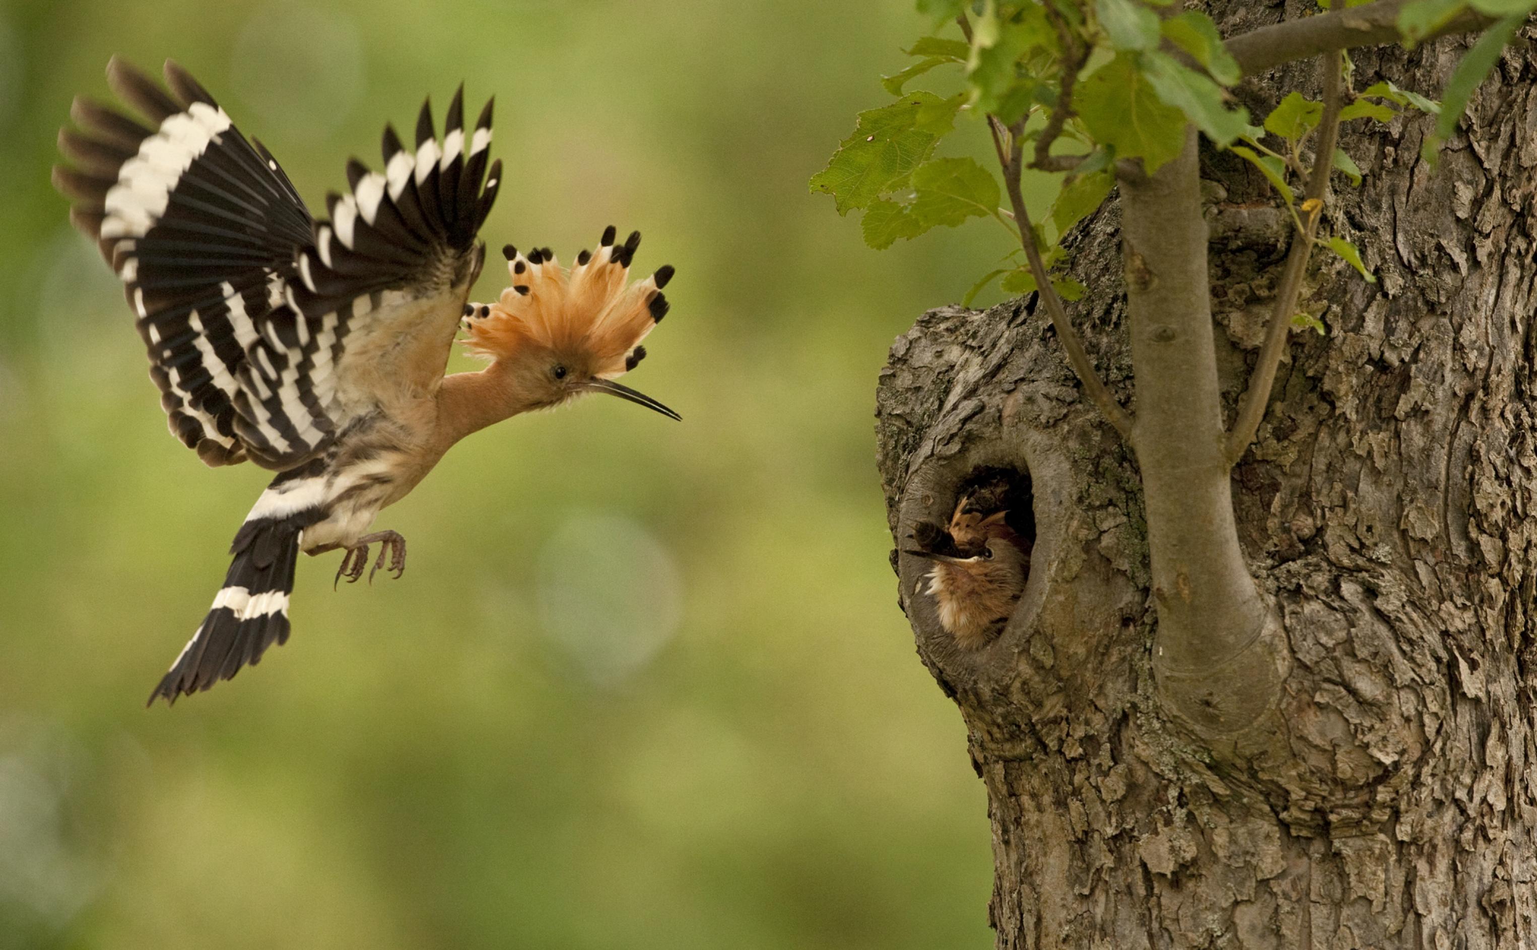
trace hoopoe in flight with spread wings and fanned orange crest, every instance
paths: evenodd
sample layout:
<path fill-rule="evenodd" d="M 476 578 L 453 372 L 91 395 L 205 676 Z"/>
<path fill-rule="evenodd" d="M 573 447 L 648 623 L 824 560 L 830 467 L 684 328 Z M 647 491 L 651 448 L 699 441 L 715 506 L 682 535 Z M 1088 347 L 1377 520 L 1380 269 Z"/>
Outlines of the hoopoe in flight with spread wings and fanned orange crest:
<path fill-rule="evenodd" d="M 400 576 L 406 540 L 369 527 L 466 435 L 587 392 L 678 418 L 615 381 L 667 314 L 672 267 L 629 281 L 639 234 L 616 244 L 610 228 L 569 271 L 549 249 L 509 246 L 512 286 L 469 303 L 501 183 L 501 161 L 487 169 L 492 103 L 466 131 L 461 88 L 441 143 L 423 105 L 413 151 L 386 128 L 384 172 L 352 160 L 350 194 L 332 194 L 317 221 L 203 86 L 171 61 L 164 75 L 169 94 L 114 57 L 109 85 L 149 125 L 77 98 L 78 129 L 58 135 L 71 166 L 54 183 L 123 280 L 171 432 L 209 466 L 251 460 L 277 477 L 151 703 L 206 690 L 287 639 L 301 550 L 346 552 L 337 578 L 350 583 L 378 543 L 373 570 L 389 555 Z M 444 375 L 461 324 L 490 364 Z"/>

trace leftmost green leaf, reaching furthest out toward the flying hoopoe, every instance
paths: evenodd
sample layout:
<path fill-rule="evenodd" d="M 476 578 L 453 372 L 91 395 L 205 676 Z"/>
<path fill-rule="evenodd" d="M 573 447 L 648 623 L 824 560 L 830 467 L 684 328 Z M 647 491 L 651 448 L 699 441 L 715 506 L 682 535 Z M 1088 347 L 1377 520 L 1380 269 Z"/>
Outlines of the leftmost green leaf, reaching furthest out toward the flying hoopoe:
<path fill-rule="evenodd" d="M 911 92 L 890 106 L 861 112 L 855 134 L 812 177 L 812 191 L 833 195 L 838 214 L 868 208 L 907 184 L 939 137 L 954 128 L 959 108 L 961 97 L 944 100 L 931 92 Z"/>

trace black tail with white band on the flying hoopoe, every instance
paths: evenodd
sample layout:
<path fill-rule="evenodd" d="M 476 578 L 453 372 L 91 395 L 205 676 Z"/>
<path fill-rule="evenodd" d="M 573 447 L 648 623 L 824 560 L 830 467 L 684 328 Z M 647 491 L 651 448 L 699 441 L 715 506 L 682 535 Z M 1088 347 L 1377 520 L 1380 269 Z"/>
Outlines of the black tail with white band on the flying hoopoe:
<path fill-rule="evenodd" d="M 235 561 L 224 576 L 224 587 L 160 686 L 149 693 L 151 706 L 161 696 L 175 703 L 177 696 L 231 679 L 240 667 L 260 663 L 274 643 L 287 643 L 289 593 L 294 590 L 300 535 L 326 513 L 309 507 L 272 517 L 263 515 L 261 509 L 258 503 L 240 526 L 229 547 Z"/>

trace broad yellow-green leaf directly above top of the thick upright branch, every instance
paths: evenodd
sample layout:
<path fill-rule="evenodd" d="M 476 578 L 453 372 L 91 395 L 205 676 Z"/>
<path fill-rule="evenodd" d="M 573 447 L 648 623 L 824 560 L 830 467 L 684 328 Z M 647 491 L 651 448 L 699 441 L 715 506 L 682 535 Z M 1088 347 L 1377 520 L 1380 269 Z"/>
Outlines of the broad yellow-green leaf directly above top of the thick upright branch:
<path fill-rule="evenodd" d="M 1164 103 L 1122 52 L 1077 85 L 1073 108 L 1094 140 L 1120 158 L 1142 158 L 1153 174 L 1185 148 L 1185 115 Z"/>

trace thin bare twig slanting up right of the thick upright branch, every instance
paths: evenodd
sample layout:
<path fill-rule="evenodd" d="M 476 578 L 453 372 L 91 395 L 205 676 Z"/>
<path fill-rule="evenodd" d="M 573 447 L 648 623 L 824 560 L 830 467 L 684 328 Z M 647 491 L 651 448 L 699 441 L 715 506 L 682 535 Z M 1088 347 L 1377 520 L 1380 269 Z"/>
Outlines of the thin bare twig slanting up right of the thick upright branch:
<path fill-rule="evenodd" d="M 1331 9 L 1342 9 L 1343 0 L 1331 0 Z M 1233 420 L 1228 432 L 1227 460 L 1228 466 L 1237 464 L 1248 452 L 1259 423 L 1265 418 L 1265 407 L 1270 404 L 1270 390 L 1276 383 L 1276 369 L 1280 357 L 1286 352 L 1286 341 L 1291 334 L 1291 315 L 1297 307 L 1297 294 L 1302 291 L 1302 275 L 1308 269 L 1308 255 L 1313 251 L 1313 235 L 1317 232 L 1319 218 L 1323 217 L 1323 203 L 1328 200 L 1330 172 L 1334 171 L 1334 144 L 1339 141 L 1340 109 L 1343 108 L 1343 57 L 1334 49 L 1323 54 L 1323 118 L 1319 121 L 1319 140 L 1313 152 L 1313 172 L 1308 178 L 1305 200 L 1302 201 L 1302 226 L 1291 238 L 1291 251 L 1286 254 L 1286 269 L 1282 272 L 1280 289 L 1276 294 L 1276 309 L 1270 315 L 1270 327 L 1265 332 L 1265 343 L 1260 344 L 1259 360 L 1250 375 L 1248 389 L 1239 400 L 1239 414 Z"/>

